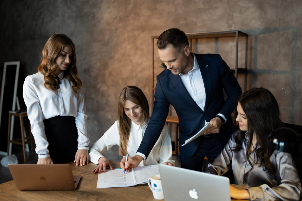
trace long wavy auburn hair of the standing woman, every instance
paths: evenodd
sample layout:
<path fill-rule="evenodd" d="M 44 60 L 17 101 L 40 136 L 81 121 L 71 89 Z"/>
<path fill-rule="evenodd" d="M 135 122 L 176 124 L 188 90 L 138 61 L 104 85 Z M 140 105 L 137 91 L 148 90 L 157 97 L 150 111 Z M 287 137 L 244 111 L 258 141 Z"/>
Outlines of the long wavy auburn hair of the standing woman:
<path fill-rule="evenodd" d="M 64 71 L 64 77 L 72 82 L 72 89 L 76 93 L 82 87 L 82 81 L 77 76 L 78 70 L 76 68 L 75 45 L 66 35 L 56 33 L 50 36 L 43 48 L 41 63 L 38 66 L 38 71 L 44 75 L 44 86 L 47 89 L 55 91 L 55 86 L 58 84 L 58 81 L 54 78 L 54 72 L 58 68 L 56 59 L 62 53 L 65 46 L 71 46 L 73 58 L 71 59 L 67 69 Z"/>

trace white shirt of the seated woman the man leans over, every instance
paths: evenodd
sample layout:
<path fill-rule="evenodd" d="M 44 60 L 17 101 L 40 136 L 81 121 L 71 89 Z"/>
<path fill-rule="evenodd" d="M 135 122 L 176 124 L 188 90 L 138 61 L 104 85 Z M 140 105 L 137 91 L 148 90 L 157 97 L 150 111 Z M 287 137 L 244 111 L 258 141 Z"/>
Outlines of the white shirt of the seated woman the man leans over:
<path fill-rule="evenodd" d="M 140 142 L 143 140 L 146 127 L 146 124 L 144 124 L 143 128 L 141 128 L 140 125 L 137 125 L 131 121 L 131 130 L 127 144 L 127 153 L 129 156 L 134 156 L 136 154 L 136 151 L 140 146 Z M 104 133 L 104 135 L 90 148 L 89 160 L 97 165 L 98 159 L 103 157 L 102 153 L 105 153 L 114 145 L 120 145 L 118 121 L 115 121 L 114 124 Z M 140 162 L 138 166 L 156 165 L 164 162 L 169 162 L 175 165 L 175 161 L 172 160 L 171 138 L 167 124 L 165 124 L 164 128 L 162 129 L 162 133 L 160 134 L 159 139 L 156 141 L 148 158 Z"/>

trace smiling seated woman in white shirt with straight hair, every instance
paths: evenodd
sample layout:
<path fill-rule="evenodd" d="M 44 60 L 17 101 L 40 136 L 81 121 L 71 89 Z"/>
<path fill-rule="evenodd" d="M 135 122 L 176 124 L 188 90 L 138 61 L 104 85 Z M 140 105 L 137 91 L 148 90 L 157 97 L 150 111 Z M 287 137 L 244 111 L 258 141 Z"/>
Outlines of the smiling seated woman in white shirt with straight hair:
<path fill-rule="evenodd" d="M 98 165 L 93 172 L 100 173 L 110 162 L 102 155 L 112 146 L 119 145 L 119 154 L 134 156 L 149 122 L 149 104 L 146 96 L 136 86 L 127 86 L 120 93 L 117 121 L 96 141 L 89 152 L 89 160 Z M 165 124 L 159 139 L 148 158 L 139 166 L 165 164 L 174 165 L 172 160 L 171 138 Z M 127 170 L 130 171 L 130 170 Z"/>

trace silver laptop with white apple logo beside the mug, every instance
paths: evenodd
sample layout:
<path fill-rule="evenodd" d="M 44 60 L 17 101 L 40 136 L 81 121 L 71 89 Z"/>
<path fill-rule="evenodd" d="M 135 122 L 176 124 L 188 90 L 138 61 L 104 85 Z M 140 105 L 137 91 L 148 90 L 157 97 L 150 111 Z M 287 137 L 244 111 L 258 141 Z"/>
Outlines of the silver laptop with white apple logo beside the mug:
<path fill-rule="evenodd" d="M 165 201 L 230 201 L 227 177 L 159 164 Z"/>

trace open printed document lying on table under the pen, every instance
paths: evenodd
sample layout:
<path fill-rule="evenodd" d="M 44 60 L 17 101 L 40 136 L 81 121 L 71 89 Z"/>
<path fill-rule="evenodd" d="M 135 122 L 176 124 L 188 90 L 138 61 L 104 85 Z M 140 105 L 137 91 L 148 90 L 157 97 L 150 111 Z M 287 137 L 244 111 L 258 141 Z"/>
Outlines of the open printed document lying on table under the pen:
<path fill-rule="evenodd" d="M 128 187 L 143 184 L 153 175 L 159 174 L 158 165 L 147 165 L 132 168 L 130 172 L 124 173 L 121 168 L 106 170 L 98 174 L 97 188 Z"/>

